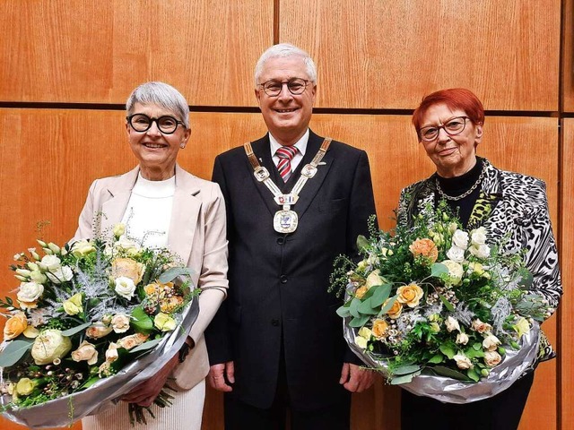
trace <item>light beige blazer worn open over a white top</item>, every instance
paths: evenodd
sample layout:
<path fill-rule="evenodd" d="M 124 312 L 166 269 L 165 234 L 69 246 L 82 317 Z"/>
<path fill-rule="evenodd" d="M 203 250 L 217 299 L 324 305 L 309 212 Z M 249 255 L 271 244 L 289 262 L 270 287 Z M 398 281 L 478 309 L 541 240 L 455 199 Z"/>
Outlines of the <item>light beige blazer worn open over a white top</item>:
<path fill-rule="evenodd" d="M 121 221 L 138 172 L 139 167 L 121 176 L 96 179 L 91 184 L 74 240 L 99 236 Z M 176 384 L 184 390 L 202 381 L 209 371 L 204 330 L 227 295 L 226 234 L 225 202 L 219 185 L 193 176 L 176 165 L 168 244 L 196 273 L 192 280 L 202 289 L 199 315 L 189 333 L 196 347 L 173 371 Z"/>

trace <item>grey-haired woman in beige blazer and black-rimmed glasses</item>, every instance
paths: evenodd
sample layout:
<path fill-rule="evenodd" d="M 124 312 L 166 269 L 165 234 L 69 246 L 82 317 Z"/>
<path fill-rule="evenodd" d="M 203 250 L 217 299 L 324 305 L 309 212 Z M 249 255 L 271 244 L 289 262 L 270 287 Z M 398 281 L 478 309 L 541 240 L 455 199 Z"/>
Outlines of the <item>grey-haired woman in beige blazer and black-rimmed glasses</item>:
<path fill-rule="evenodd" d="M 178 90 L 163 82 L 143 83 L 127 99 L 126 109 L 127 138 L 139 164 L 124 175 L 93 182 L 74 238 L 98 236 L 123 222 L 126 234 L 142 245 L 169 247 L 196 273 L 192 280 L 202 289 L 200 313 L 183 349 L 170 351 L 166 366 L 116 407 L 84 418 L 83 429 L 199 430 L 209 370 L 203 333 L 228 287 L 223 197 L 218 185 L 177 164 L 190 133 L 189 107 Z M 103 215 L 94 223 L 97 213 Z M 127 404 L 152 405 L 169 377 L 178 387 L 173 405 L 153 409 L 156 418 L 148 419 L 147 426 L 130 427 Z"/>

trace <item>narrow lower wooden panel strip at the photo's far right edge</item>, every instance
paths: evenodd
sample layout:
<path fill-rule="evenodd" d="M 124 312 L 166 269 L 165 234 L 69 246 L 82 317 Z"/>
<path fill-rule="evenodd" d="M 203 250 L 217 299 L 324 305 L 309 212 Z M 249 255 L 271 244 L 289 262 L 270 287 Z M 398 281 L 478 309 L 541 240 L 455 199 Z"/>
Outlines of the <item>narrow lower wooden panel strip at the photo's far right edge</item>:
<path fill-rule="evenodd" d="M 565 285 L 560 314 L 560 413 L 561 429 L 574 428 L 574 118 L 563 120 L 562 139 L 562 211 L 561 211 L 561 268 Z"/>

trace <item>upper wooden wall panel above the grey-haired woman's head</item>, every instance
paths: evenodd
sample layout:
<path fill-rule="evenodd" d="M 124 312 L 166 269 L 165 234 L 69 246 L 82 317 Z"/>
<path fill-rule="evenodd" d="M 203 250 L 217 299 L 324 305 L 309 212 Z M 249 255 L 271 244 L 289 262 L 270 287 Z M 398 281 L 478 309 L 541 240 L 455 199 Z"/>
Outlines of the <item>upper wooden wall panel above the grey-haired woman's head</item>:
<path fill-rule="evenodd" d="M 191 105 L 254 105 L 273 0 L 4 0 L 0 101 L 125 103 L 164 81 Z"/>

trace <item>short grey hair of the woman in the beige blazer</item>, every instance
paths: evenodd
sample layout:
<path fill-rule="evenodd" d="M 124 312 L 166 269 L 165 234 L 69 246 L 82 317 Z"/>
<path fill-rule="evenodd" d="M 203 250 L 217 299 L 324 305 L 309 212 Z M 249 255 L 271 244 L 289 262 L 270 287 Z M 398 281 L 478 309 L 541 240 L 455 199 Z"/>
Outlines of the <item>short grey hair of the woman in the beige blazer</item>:
<path fill-rule="evenodd" d="M 171 85 L 164 82 L 145 82 L 138 86 L 129 95 L 126 101 L 127 115 L 132 115 L 134 112 L 135 103 L 143 105 L 158 105 L 173 112 L 177 119 L 179 119 L 186 128 L 189 128 L 189 105 L 185 97 L 173 88 Z"/>

